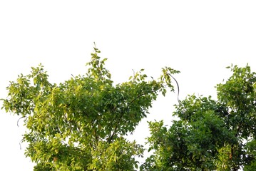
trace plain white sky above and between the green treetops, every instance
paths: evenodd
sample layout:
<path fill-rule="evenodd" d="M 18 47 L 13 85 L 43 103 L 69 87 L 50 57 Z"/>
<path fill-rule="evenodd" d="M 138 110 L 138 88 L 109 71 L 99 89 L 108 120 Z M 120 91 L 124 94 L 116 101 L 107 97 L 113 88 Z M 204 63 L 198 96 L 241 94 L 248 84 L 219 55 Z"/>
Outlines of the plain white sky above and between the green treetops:
<path fill-rule="evenodd" d="M 93 42 L 108 58 L 115 83 L 145 68 L 157 78 L 160 68 L 181 71 L 180 99 L 213 95 L 230 76 L 231 63 L 256 71 L 255 1 L 0 1 L 0 98 L 19 73 L 42 63 L 53 83 L 86 73 Z M 170 125 L 177 93 L 160 97 L 148 120 Z M 0 103 L 1 105 L 1 103 Z M 1 107 L 1 106 L 0 106 Z M 24 157 L 19 118 L 0 114 L 0 170 L 33 170 Z M 131 139 L 143 143 L 143 120 Z"/>

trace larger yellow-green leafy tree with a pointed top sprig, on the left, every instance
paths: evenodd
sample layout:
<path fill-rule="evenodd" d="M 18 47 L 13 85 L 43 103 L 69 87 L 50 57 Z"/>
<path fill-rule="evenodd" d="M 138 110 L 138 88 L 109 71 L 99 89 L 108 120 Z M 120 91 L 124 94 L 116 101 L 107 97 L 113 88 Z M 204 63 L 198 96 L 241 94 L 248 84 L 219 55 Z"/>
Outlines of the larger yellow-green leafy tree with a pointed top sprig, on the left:
<path fill-rule="evenodd" d="M 135 170 L 143 146 L 124 135 L 133 133 L 159 93 L 173 91 L 172 74 L 163 68 L 158 80 L 143 70 L 113 84 L 106 59 L 94 48 L 88 72 L 63 83 L 50 83 L 43 66 L 32 67 L 7 88 L 3 108 L 24 119 L 26 157 L 34 170 Z"/>

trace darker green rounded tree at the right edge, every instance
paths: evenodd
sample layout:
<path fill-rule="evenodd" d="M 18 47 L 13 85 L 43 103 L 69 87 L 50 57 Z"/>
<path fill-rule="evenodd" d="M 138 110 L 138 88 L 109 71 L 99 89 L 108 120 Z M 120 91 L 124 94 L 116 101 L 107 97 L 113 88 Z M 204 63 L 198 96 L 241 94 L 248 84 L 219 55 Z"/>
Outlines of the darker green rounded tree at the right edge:
<path fill-rule="evenodd" d="M 256 73 L 231 68 L 217 100 L 188 95 L 168 128 L 150 122 L 149 150 L 140 170 L 256 170 Z"/>

